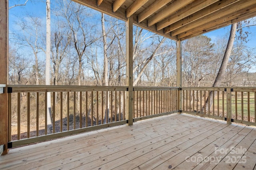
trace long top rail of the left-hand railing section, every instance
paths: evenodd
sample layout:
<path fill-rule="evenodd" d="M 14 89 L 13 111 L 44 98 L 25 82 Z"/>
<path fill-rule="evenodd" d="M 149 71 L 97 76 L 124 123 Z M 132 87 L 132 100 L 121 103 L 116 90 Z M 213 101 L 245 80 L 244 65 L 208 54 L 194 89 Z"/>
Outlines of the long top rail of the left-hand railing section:
<path fill-rule="evenodd" d="M 8 85 L 12 93 L 21 92 L 72 92 L 72 91 L 127 91 L 127 86 L 77 86 L 77 85 Z"/>

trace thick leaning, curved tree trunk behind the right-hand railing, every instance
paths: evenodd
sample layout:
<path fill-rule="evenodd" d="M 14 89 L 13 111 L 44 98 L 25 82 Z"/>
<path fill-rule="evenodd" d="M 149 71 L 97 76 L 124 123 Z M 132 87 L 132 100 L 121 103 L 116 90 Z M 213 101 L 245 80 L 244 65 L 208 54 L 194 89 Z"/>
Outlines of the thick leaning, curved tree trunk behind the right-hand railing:
<path fill-rule="evenodd" d="M 237 26 L 237 23 L 234 23 L 234 24 L 231 25 L 230 36 L 229 36 L 229 39 L 228 39 L 228 44 L 227 44 L 227 47 L 226 47 L 226 51 L 224 53 L 224 57 L 222 59 L 221 65 L 220 65 L 220 69 L 218 71 L 218 74 L 216 76 L 216 79 L 215 79 L 212 87 L 220 86 L 222 78 L 224 77 L 224 74 L 225 74 L 225 71 L 226 71 L 227 65 L 228 65 L 228 59 L 229 59 L 229 57 L 231 55 L 231 51 L 232 51 L 234 40 L 235 40 L 235 36 L 236 36 L 236 26 Z M 204 105 L 204 107 L 206 108 L 206 111 L 209 108 L 212 107 L 213 95 L 215 96 L 215 93 L 213 94 L 213 91 L 210 91 L 210 94 L 208 95 L 208 98 L 207 98 L 206 103 Z M 210 106 L 208 106 L 209 100 L 210 100 Z M 204 111 L 204 107 L 202 108 L 202 111 Z"/>

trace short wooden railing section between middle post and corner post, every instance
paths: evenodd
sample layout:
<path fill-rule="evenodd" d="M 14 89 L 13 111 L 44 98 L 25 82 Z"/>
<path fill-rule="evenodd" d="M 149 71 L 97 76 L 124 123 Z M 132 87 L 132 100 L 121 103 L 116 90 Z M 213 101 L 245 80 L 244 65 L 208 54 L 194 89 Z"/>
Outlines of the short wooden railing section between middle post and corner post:
<path fill-rule="evenodd" d="M 134 87 L 134 121 L 178 113 L 178 87 Z"/>

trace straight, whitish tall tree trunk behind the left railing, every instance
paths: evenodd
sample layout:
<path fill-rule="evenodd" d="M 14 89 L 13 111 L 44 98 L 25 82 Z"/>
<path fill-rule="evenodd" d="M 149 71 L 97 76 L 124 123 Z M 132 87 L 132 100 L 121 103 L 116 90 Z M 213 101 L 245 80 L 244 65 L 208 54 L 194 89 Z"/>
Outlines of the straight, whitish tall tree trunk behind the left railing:
<path fill-rule="evenodd" d="M 50 51 L 51 51 L 51 16 L 50 0 L 46 0 L 46 65 L 45 84 L 50 85 Z M 51 93 L 47 93 L 47 132 L 52 129 Z"/>

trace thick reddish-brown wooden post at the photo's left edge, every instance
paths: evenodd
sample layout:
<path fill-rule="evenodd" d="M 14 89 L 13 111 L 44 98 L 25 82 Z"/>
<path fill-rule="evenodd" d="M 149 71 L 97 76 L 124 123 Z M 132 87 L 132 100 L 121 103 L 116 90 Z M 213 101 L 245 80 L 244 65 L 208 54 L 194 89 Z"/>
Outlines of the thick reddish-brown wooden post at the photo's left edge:
<path fill-rule="evenodd" d="M 0 0 L 0 84 L 8 85 L 8 0 Z M 0 94 L 0 145 L 8 153 L 8 93 Z"/>

